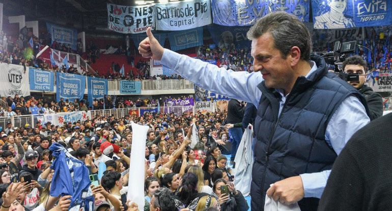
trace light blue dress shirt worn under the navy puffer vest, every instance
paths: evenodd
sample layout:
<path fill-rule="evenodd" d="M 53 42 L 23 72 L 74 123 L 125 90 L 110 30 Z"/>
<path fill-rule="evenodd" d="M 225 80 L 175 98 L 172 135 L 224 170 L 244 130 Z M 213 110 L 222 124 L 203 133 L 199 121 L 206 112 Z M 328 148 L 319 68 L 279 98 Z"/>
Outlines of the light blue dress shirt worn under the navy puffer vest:
<path fill-rule="evenodd" d="M 259 104 L 262 92 L 257 85 L 263 81 L 261 73 L 234 72 L 167 49 L 164 49 L 161 63 L 199 87 L 230 98 Z M 313 61 L 311 66 L 312 69 L 306 77 L 317 69 Z M 282 95 L 280 113 L 287 95 L 284 96 L 282 91 L 279 93 Z M 350 137 L 369 122 L 362 103 L 355 96 L 348 96 L 332 115 L 326 128 L 325 139 L 339 155 Z M 304 197 L 320 198 L 329 174 L 330 170 L 300 174 Z"/>

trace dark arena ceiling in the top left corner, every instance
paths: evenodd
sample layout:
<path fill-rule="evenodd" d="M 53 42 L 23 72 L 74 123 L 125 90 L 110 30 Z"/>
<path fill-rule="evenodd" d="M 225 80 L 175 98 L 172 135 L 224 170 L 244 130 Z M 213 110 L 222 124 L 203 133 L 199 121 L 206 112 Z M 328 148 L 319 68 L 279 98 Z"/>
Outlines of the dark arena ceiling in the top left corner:
<path fill-rule="evenodd" d="M 25 15 L 26 21 L 61 23 L 77 29 L 94 29 L 107 23 L 106 4 L 135 5 L 135 0 L 0 0 L 4 18 Z"/>

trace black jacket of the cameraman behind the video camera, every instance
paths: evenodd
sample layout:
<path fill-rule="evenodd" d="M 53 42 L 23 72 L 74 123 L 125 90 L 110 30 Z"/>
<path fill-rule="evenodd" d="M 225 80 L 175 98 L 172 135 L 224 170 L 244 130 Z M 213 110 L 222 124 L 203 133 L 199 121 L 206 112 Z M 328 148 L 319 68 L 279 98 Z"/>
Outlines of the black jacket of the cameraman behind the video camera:
<path fill-rule="evenodd" d="M 363 85 L 362 88 L 358 90 L 366 99 L 370 111 L 370 121 L 377 119 L 382 116 L 384 111 L 384 105 L 382 97 L 379 93 L 373 91 L 372 88 L 367 85 Z"/>

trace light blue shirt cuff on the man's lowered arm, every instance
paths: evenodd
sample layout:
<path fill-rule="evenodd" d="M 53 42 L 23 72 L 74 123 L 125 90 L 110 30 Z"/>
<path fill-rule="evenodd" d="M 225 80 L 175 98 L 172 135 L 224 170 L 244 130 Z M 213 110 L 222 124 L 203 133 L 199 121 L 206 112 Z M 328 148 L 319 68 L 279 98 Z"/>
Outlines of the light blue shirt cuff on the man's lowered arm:
<path fill-rule="evenodd" d="M 321 198 L 331 170 L 316 173 L 300 174 L 303 184 L 304 197 Z"/>

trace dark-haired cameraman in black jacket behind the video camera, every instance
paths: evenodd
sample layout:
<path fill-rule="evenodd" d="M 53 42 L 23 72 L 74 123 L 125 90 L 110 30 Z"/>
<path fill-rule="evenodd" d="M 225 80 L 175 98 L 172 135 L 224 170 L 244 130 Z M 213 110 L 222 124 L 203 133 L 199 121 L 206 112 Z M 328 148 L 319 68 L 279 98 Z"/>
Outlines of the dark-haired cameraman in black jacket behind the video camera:
<path fill-rule="evenodd" d="M 359 81 L 349 81 L 348 83 L 365 97 L 370 111 L 370 121 L 381 117 L 383 112 L 382 97 L 379 93 L 374 92 L 372 88 L 365 84 L 365 74 L 368 71 L 366 61 L 358 55 L 351 56 L 343 62 L 342 69 L 348 74 L 359 75 Z"/>

